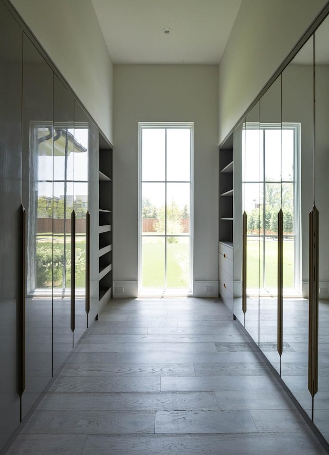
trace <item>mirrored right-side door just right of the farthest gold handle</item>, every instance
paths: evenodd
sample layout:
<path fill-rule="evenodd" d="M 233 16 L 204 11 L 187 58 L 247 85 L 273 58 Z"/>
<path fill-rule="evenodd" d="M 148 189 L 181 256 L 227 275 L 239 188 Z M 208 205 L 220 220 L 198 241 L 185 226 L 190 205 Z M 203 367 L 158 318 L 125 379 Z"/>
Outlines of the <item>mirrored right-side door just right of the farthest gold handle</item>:
<path fill-rule="evenodd" d="M 247 214 L 247 300 L 245 327 L 259 344 L 259 288 L 261 275 L 261 208 L 263 201 L 263 154 L 261 153 L 260 102 L 247 114 L 243 132 L 243 212 Z"/>

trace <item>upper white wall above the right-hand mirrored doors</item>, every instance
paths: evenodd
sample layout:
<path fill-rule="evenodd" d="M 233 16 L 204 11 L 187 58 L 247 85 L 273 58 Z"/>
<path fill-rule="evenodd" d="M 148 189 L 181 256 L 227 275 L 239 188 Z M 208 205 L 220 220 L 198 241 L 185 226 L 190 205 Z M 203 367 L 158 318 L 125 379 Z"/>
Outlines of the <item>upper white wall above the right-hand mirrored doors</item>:
<path fill-rule="evenodd" d="M 219 70 L 221 143 L 326 0 L 243 0 Z"/>

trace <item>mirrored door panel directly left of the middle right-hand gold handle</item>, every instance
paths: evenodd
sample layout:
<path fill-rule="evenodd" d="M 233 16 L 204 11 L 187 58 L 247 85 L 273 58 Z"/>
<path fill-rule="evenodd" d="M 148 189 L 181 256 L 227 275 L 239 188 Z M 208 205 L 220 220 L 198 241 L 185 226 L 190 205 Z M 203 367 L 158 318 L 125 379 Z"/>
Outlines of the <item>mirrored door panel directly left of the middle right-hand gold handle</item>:
<path fill-rule="evenodd" d="M 280 372 L 278 352 L 278 212 L 281 208 L 281 76 L 260 100 L 260 348 Z"/>

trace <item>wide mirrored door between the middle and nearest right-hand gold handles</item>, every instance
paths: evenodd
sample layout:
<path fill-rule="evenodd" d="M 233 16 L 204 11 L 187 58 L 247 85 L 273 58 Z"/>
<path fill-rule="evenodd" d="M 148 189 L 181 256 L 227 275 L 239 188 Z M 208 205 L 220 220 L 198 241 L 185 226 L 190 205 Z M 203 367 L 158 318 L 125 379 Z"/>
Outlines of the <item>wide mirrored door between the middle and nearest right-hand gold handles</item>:
<path fill-rule="evenodd" d="M 308 392 L 308 299 L 300 298 L 300 275 L 302 273 L 303 281 L 308 280 L 308 214 L 313 205 L 312 140 L 313 38 L 282 73 L 284 300 L 281 377 L 308 413 L 312 408 Z"/>

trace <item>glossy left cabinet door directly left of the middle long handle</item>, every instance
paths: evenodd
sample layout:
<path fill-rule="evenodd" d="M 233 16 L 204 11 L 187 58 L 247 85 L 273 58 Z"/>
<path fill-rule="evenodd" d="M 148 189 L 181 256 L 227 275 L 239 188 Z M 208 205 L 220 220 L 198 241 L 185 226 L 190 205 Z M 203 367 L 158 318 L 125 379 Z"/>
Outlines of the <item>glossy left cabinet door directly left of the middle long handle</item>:
<path fill-rule="evenodd" d="M 54 76 L 53 105 L 53 374 L 72 349 L 71 212 L 74 179 L 74 99 Z M 68 181 L 70 180 L 70 181 Z"/>

